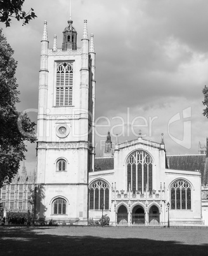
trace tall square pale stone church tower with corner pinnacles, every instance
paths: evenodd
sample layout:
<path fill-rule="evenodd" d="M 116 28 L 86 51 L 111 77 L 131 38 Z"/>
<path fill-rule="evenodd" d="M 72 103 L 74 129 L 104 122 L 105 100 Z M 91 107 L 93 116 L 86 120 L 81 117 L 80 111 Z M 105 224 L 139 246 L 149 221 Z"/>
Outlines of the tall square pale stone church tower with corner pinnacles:
<path fill-rule="evenodd" d="M 81 47 L 68 20 L 62 48 L 41 41 L 37 118 L 36 218 L 86 224 L 88 172 L 94 168 L 94 40 L 87 20 Z"/>

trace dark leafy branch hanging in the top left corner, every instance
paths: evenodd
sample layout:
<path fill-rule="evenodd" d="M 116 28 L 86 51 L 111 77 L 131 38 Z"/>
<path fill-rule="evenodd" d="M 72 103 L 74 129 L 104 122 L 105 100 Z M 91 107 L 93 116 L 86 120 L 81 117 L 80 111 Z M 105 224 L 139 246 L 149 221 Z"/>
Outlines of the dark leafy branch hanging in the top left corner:
<path fill-rule="evenodd" d="M 6 27 L 10 27 L 11 18 L 22 20 L 22 25 L 29 23 L 32 18 L 36 18 L 32 8 L 27 13 L 22 10 L 24 2 L 25 0 L 0 0 L 0 22 L 4 22 Z"/>

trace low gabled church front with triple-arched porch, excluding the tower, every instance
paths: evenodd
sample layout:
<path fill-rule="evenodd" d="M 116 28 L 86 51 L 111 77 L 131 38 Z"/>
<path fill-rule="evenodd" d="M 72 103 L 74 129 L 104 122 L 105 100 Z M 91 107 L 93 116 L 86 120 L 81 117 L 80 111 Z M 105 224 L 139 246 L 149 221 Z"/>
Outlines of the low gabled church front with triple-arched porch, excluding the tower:
<path fill-rule="evenodd" d="M 167 225 L 169 212 L 171 225 L 203 224 L 201 172 L 171 168 L 170 158 L 163 138 L 115 144 L 89 173 L 89 216 L 103 208 L 114 225 Z"/>

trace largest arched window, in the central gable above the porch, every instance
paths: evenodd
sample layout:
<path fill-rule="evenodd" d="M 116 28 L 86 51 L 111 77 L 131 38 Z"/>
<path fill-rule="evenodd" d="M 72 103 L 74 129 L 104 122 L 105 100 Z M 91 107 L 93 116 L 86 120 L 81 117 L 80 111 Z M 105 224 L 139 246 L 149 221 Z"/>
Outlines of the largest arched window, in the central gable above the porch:
<path fill-rule="evenodd" d="M 152 157 L 143 150 L 131 153 L 127 159 L 127 190 L 140 190 L 147 188 L 152 191 Z"/>

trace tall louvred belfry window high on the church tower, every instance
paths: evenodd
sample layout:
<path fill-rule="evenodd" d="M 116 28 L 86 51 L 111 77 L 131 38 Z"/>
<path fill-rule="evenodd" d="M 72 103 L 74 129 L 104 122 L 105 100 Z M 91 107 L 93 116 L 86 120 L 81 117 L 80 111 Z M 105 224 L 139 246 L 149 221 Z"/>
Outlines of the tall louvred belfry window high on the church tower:
<path fill-rule="evenodd" d="M 73 67 L 63 62 L 56 69 L 56 106 L 72 106 Z"/>

